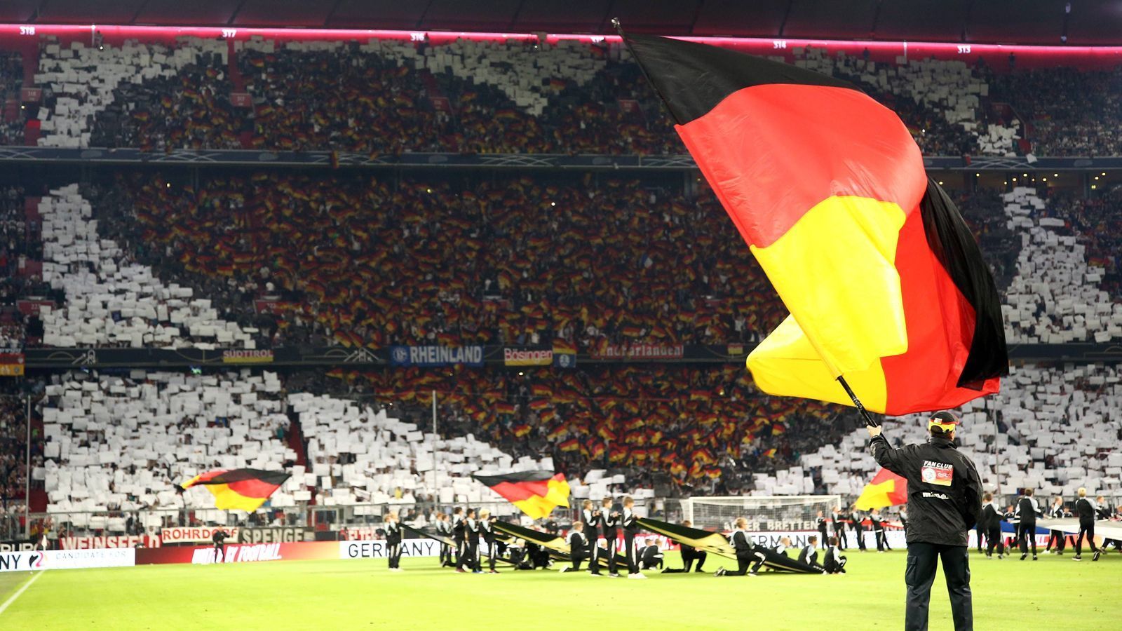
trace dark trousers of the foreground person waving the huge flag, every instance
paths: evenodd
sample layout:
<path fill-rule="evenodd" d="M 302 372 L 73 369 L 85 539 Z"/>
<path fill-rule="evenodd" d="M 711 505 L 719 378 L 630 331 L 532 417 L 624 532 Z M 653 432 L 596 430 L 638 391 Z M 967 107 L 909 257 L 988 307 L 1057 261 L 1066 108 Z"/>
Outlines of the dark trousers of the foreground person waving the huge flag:
<path fill-rule="evenodd" d="M 935 582 L 935 570 L 940 558 L 942 575 L 947 579 L 947 593 L 950 595 L 950 614 L 955 621 L 955 631 L 974 629 L 971 564 L 967 550 L 966 546 L 908 543 L 908 566 L 904 569 L 904 584 L 908 586 L 905 630 L 927 630 L 931 584 Z"/>

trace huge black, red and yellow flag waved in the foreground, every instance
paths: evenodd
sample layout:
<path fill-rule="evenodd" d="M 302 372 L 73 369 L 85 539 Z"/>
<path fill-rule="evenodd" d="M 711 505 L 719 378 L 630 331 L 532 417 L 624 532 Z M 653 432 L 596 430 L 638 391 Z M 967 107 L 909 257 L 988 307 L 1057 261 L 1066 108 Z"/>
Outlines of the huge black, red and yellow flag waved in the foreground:
<path fill-rule="evenodd" d="M 954 408 L 1008 374 L 993 277 L 903 122 L 854 85 L 625 37 L 790 317 L 748 356 L 771 394 Z"/>

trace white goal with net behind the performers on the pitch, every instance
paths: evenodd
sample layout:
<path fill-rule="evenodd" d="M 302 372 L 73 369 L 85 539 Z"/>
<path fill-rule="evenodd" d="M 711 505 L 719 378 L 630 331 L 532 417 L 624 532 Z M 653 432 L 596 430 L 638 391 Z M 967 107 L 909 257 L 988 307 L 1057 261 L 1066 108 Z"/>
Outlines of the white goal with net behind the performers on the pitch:
<path fill-rule="evenodd" d="M 690 497 L 682 502 L 682 516 L 706 530 L 732 530 L 736 518 L 746 518 L 749 531 L 787 532 L 816 530 L 818 511 L 829 515 L 840 505 L 840 495 Z"/>

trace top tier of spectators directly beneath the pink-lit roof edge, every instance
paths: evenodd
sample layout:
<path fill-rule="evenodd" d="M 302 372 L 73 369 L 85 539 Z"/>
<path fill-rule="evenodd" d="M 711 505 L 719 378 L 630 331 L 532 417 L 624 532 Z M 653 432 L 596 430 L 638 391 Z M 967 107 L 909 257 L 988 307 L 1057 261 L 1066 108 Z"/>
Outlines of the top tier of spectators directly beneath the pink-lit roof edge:
<path fill-rule="evenodd" d="M 859 85 L 929 155 L 1113 155 L 1119 68 L 1001 68 L 981 61 L 828 55 L 779 61 Z M 18 56 L 0 57 L 18 91 Z M 18 76 L 18 79 L 17 79 Z M 7 77 L 7 81 L 4 79 Z M 180 38 L 42 42 L 31 144 L 58 147 L 682 154 L 618 45 Z M 1106 86 L 1106 88 L 1104 88 Z M 237 95 L 237 97 L 233 97 Z M 10 112 L 8 141 L 24 117 Z"/>

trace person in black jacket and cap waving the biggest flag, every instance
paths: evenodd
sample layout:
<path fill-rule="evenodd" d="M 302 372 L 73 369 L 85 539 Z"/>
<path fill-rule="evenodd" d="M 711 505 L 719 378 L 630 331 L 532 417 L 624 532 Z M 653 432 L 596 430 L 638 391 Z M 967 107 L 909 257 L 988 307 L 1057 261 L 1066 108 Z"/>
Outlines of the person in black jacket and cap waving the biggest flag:
<path fill-rule="evenodd" d="M 936 412 L 928 421 L 930 438 L 922 445 L 893 449 L 870 427 L 868 448 L 877 464 L 908 479 L 908 606 L 904 629 L 926 630 L 935 569 L 942 574 L 950 595 L 950 611 L 958 631 L 974 628 L 967 531 L 982 510 L 982 481 L 974 463 L 955 446 L 958 418 Z"/>

